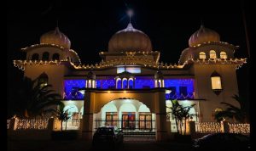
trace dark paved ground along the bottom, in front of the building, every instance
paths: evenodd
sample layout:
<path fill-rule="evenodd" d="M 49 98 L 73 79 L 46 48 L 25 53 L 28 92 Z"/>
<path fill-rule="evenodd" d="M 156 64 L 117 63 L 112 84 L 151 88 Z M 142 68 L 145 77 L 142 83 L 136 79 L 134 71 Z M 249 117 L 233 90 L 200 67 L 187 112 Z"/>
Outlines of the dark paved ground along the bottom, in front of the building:
<path fill-rule="evenodd" d="M 157 143 L 154 141 L 126 140 L 122 145 L 116 148 L 95 149 L 91 147 L 90 142 L 84 140 L 76 141 L 9 141 L 9 151 L 93 151 L 93 150 L 122 150 L 122 151 L 189 151 L 189 143 Z"/>

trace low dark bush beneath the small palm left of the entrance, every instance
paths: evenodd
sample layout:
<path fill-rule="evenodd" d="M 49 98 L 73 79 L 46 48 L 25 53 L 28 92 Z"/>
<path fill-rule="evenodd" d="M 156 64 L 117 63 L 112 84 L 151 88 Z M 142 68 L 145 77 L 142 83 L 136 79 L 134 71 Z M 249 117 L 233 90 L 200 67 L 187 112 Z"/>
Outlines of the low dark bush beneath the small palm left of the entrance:
<path fill-rule="evenodd" d="M 51 139 L 52 140 L 74 140 L 79 136 L 78 131 L 69 130 L 69 131 L 52 131 Z"/>

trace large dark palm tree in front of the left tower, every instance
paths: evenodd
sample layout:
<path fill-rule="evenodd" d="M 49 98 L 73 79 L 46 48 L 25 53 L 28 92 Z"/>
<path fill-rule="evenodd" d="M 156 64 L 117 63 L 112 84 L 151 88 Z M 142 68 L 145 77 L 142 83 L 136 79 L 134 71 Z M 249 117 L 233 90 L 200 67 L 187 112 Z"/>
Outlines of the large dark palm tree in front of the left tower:
<path fill-rule="evenodd" d="M 53 113 L 56 106 L 61 104 L 61 95 L 51 90 L 51 85 L 38 83 L 38 78 L 33 80 L 24 77 L 18 91 L 14 94 L 15 106 L 13 114 L 18 117 L 44 116 Z"/>

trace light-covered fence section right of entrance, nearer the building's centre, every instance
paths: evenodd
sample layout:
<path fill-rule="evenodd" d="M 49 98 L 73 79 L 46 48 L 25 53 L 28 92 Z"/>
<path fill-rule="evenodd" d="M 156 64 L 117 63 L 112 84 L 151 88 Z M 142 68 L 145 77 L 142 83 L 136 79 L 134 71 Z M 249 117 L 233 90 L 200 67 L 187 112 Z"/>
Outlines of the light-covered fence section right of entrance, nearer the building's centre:
<path fill-rule="evenodd" d="M 196 122 L 195 132 L 200 133 L 216 133 L 222 131 L 221 124 L 218 122 Z"/>

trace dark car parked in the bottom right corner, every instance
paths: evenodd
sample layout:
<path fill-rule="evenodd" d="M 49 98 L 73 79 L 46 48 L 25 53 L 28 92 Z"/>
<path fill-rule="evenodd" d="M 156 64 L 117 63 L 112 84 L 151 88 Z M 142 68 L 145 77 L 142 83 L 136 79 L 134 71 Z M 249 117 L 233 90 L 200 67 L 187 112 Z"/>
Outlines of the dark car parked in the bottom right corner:
<path fill-rule="evenodd" d="M 250 138 L 236 133 L 214 133 L 208 134 L 193 143 L 194 150 L 250 150 Z"/>

